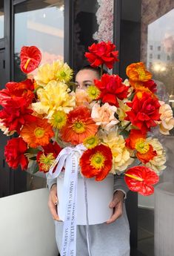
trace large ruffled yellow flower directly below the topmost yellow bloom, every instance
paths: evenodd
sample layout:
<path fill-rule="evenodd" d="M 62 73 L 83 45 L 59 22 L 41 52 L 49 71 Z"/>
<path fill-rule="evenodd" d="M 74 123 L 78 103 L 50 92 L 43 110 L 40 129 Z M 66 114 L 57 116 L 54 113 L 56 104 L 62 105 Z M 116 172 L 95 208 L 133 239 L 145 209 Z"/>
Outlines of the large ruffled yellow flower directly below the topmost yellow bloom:
<path fill-rule="evenodd" d="M 69 113 L 76 105 L 75 96 L 68 93 L 67 85 L 63 82 L 51 81 L 37 94 L 39 102 L 33 103 L 32 108 L 38 114 L 46 114 L 47 119 L 51 119 L 56 111 Z"/>

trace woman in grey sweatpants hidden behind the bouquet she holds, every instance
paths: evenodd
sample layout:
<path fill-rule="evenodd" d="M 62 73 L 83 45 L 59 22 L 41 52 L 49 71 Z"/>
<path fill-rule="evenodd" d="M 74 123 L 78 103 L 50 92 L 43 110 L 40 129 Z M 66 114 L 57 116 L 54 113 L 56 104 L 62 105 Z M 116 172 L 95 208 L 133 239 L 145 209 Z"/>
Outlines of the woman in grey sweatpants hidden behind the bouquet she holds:
<path fill-rule="evenodd" d="M 86 66 L 76 74 L 76 85 L 80 89 L 93 84 L 94 79 L 100 78 L 100 68 Z M 58 221 L 56 212 L 57 186 L 56 180 L 47 180 L 50 188 L 48 206 L 53 219 L 56 220 L 56 242 L 61 251 L 61 236 L 63 223 Z M 130 229 L 124 206 L 127 194 L 127 186 L 123 177 L 115 175 L 113 201 L 110 208 L 113 215 L 107 223 L 90 225 L 91 255 L 92 256 L 130 256 Z M 87 249 L 86 226 L 77 226 L 77 256 L 89 256 Z"/>

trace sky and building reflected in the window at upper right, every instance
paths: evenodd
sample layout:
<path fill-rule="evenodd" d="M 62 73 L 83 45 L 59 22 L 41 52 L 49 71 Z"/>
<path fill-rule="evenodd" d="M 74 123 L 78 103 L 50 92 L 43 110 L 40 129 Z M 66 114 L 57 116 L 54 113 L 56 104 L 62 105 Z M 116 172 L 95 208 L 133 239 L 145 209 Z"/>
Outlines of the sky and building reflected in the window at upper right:
<path fill-rule="evenodd" d="M 153 72 L 154 79 L 165 85 L 169 94 L 174 81 L 173 19 L 174 9 L 148 24 L 147 28 L 147 67 Z"/>

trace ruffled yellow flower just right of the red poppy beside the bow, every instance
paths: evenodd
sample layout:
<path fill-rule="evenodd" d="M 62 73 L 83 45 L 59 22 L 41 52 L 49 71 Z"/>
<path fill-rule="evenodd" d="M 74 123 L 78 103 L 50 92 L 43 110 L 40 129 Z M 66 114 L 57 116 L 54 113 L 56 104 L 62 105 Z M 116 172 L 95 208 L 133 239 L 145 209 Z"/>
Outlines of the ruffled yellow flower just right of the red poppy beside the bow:
<path fill-rule="evenodd" d="M 133 163 L 133 158 L 130 157 L 130 152 L 125 147 L 124 137 L 118 135 L 116 131 L 111 131 L 109 134 L 103 134 L 101 139 L 105 145 L 110 147 L 113 154 L 113 168 L 110 172 L 120 174 Z"/>

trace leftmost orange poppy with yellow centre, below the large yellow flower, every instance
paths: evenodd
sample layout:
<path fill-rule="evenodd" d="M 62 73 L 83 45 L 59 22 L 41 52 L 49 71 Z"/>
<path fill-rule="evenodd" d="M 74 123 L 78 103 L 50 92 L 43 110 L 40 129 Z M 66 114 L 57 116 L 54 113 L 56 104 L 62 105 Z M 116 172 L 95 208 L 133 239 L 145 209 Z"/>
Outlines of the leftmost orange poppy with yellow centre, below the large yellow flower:
<path fill-rule="evenodd" d="M 54 136 L 51 125 L 47 119 L 36 118 L 36 122 L 27 122 L 21 129 L 21 137 L 31 148 L 39 145 L 49 144 L 50 138 Z"/>

